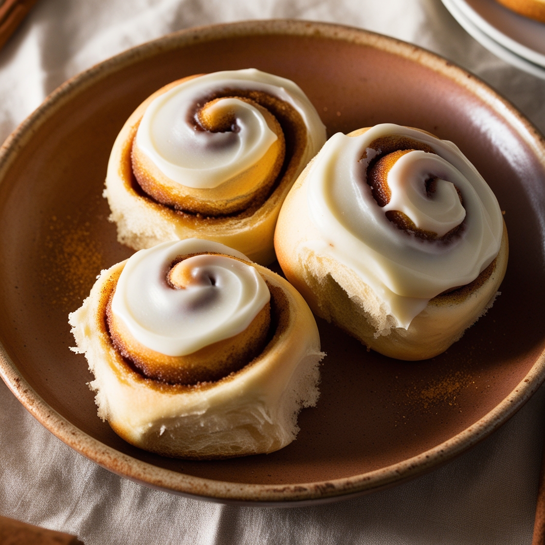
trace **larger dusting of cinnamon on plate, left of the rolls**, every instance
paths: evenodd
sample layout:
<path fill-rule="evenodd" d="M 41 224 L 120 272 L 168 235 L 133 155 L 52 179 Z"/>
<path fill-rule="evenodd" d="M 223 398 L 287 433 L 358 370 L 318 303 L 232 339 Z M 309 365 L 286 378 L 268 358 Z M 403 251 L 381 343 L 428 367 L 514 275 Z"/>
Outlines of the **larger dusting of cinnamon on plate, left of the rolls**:
<path fill-rule="evenodd" d="M 73 311 L 89 295 L 104 268 L 99 244 L 90 223 L 77 218 L 51 217 L 42 259 L 42 280 L 51 293 L 50 305 Z"/>

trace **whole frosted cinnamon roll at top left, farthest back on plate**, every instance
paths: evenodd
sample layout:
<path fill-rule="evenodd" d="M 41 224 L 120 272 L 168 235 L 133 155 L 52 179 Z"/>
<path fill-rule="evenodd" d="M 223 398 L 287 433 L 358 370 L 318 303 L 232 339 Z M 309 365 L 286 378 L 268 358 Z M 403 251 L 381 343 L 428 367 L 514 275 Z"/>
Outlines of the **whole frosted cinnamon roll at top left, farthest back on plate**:
<path fill-rule="evenodd" d="M 274 261 L 282 202 L 325 142 L 292 81 L 255 69 L 190 76 L 146 99 L 114 143 L 105 197 L 135 250 L 206 238 Z"/>

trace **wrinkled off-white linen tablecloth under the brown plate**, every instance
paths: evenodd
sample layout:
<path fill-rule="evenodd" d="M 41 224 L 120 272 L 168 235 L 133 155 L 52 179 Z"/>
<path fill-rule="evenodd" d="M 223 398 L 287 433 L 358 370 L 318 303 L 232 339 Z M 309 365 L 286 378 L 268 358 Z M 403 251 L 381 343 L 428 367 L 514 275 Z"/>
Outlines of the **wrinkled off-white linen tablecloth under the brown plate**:
<path fill-rule="evenodd" d="M 483 78 L 545 132 L 545 81 L 483 49 L 440 0 L 40 0 L 0 51 L 0 141 L 60 83 L 128 47 L 181 28 L 270 17 L 358 26 L 426 47 Z M 396 488 L 316 507 L 232 507 L 98 467 L 0 383 L 0 514 L 87 545 L 530 544 L 544 408 L 542 388 L 474 449 Z"/>

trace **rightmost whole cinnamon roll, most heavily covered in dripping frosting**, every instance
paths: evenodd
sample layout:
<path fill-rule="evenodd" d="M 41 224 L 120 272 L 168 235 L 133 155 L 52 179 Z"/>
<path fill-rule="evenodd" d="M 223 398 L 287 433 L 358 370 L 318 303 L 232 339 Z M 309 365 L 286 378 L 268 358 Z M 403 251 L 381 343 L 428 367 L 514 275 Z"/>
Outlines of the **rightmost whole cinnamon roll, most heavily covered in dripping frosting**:
<path fill-rule="evenodd" d="M 314 313 L 403 360 L 457 341 L 508 255 L 498 201 L 455 144 L 393 124 L 330 138 L 284 202 L 275 249 Z"/>

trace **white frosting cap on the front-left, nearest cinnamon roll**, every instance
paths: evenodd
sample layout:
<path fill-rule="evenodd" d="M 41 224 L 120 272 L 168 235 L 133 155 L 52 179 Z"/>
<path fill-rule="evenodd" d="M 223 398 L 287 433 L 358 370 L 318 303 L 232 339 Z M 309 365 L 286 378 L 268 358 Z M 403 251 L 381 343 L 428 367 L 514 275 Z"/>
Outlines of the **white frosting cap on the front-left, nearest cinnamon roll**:
<path fill-rule="evenodd" d="M 270 299 L 257 270 L 218 255 L 189 257 L 185 289 L 167 283 L 172 262 L 199 252 L 248 261 L 223 244 L 186 239 L 140 250 L 125 264 L 112 298 L 112 313 L 141 344 L 167 356 L 192 354 L 244 331 Z"/>

